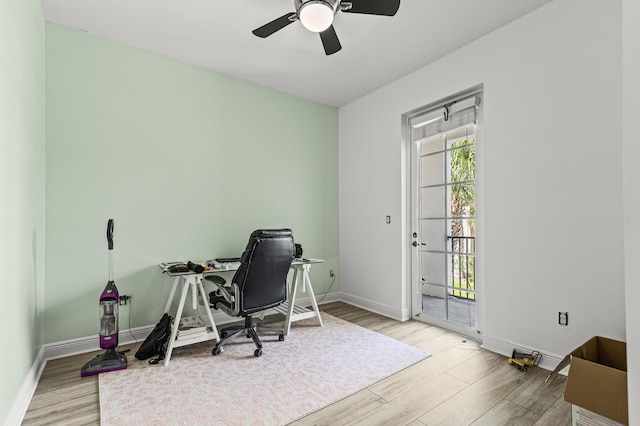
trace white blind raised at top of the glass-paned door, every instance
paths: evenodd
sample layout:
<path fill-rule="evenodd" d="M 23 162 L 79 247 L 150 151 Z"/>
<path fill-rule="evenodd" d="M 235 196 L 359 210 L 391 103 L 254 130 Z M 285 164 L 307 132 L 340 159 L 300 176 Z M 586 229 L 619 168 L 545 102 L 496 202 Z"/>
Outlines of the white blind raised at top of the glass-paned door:
<path fill-rule="evenodd" d="M 475 124 L 480 98 L 471 96 L 431 109 L 424 114 L 411 118 L 411 141 L 420 140 L 446 133 L 450 130 Z"/>

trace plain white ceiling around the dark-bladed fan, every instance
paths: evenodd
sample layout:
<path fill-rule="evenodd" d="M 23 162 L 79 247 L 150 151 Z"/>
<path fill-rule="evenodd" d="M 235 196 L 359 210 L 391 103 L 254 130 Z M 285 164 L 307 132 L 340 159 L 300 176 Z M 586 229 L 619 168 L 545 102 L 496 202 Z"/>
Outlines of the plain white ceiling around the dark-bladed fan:
<path fill-rule="evenodd" d="M 338 13 L 342 50 L 294 22 L 293 0 L 40 0 L 47 21 L 331 106 L 345 105 L 551 0 L 402 0 L 396 16 Z"/>

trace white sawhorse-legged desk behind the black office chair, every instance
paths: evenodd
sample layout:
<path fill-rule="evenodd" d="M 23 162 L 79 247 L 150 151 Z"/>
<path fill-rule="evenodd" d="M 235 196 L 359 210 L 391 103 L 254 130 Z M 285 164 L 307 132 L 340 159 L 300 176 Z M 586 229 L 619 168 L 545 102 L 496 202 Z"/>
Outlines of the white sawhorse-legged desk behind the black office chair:
<path fill-rule="evenodd" d="M 287 297 L 287 301 L 280 306 L 274 308 L 275 311 L 280 312 L 286 315 L 285 318 L 285 334 L 289 334 L 291 329 L 291 323 L 295 321 L 300 321 L 307 318 L 318 318 L 318 323 L 321 327 L 324 327 L 322 323 L 322 317 L 320 317 L 320 310 L 318 309 L 318 303 L 316 302 L 315 294 L 313 293 L 313 287 L 311 287 L 311 279 L 309 278 L 309 270 L 311 269 L 311 265 L 314 263 L 322 263 L 323 260 L 319 259 L 294 259 L 291 262 L 291 269 L 293 269 L 293 279 L 291 284 L 289 285 L 289 294 Z M 173 303 L 173 299 L 176 296 L 176 290 L 178 289 L 178 285 L 180 285 L 180 302 L 178 303 L 178 309 L 176 311 L 176 315 L 174 318 L 174 327 L 171 329 L 171 336 L 169 337 L 169 342 L 167 344 L 167 352 L 164 358 L 164 365 L 169 365 L 169 361 L 171 360 L 171 353 L 174 348 L 179 348 L 185 345 L 191 345 L 194 343 L 200 343 L 207 340 L 215 339 L 216 342 L 220 341 L 220 336 L 218 335 L 218 329 L 216 328 L 215 321 L 213 320 L 213 314 L 211 313 L 211 308 L 209 307 L 209 297 L 204 291 L 204 286 L 202 285 L 202 279 L 204 275 L 212 275 L 217 274 L 219 272 L 230 272 L 236 271 L 238 269 L 238 265 L 231 265 L 221 269 L 214 269 L 210 271 L 205 271 L 202 274 L 195 273 L 171 273 L 168 271 L 168 267 L 171 264 L 161 263 L 159 266 L 162 268 L 168 275 L 174 277 L 173 286 L 171 287 L 171 292 L 169 293 L 169 299 L 167 300 L 167 304 L 164 308 L 165 313 L 169 313 L 171 309 L 171 304 Z M 302 282 L 302 292 L 309 292 L 309 296 L 311 299 L 311 309 L 297 306 L 295 304 L 295 297 L 300 285 Z M 176 324 L 180 323 L 180 318 L 182 318 L 182 311 L 184 310 L 184 304 L 187 300 L 187 293 L 191 290 L 191 305 L 193 309 L 198 310 L 198 314 L 200 314 L 200 305 L 198 303 L 198 295 L 202 298 L 204 310 L 207 318 L 209 319 L 209 323 L 211 324 L 211 328 L 208 329 L 207 333 L 204 335 L 197 335 L 193 338 L 181 338 L 176 340 L 178 336 L 178 327 Z"/>

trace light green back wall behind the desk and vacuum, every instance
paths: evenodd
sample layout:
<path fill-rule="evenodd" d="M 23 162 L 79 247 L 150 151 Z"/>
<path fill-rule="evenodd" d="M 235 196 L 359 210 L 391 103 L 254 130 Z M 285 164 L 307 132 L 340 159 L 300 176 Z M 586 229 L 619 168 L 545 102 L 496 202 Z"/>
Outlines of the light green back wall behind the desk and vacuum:
<path fill-rule="evenodd" d="M 314 290 L 329 288 L 335 108 L 55 24 L 46 40 L 46 342 L 97 334 L 109 218 L 114 278 L 133 296 L 121 329 L 160 318 L 159 262 L 239 255 L 257 228 L 292 228 L 327 261 Z"/>

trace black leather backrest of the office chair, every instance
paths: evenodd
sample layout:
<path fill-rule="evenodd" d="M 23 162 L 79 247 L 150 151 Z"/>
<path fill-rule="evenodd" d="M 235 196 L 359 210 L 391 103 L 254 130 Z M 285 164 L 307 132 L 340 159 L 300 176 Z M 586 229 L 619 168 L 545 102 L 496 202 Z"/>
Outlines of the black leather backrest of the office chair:
<path fill-rule="evenodd" d="M 254 231 L 233 276 L 240 294 L 238 316 L 263 311 L 287 300 L 287 274 L 294 255 L 290 229 Z"/>

